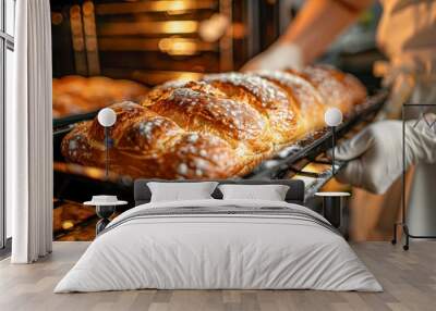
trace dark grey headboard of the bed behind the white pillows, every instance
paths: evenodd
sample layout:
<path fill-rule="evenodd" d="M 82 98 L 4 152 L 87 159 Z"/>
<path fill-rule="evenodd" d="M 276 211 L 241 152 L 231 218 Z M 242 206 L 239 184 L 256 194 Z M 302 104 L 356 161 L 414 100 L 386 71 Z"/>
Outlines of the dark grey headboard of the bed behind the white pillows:
<path fill-rule="evenodd" d="M 152 199 L 152 191 L 147 186 L 149 182 L 160 183 L 198 183 L 205 181 L 164 181 L 164 179 L 136 179 L 134 184 L 134 199 L 135 206 L 148 203 Z M 287 185 L 289 186 L 288 194 L 284 200 L 289 203 L 303 204 L 304 203 L 304 182 L 298 179 L 221 179 L 213 181 L 218 182 L 220 185 L 223 184 L 235 184 L 235 185 Z M 218 189 L 211 194 L 215 199 L 222 199 L 222 194 Z"/>

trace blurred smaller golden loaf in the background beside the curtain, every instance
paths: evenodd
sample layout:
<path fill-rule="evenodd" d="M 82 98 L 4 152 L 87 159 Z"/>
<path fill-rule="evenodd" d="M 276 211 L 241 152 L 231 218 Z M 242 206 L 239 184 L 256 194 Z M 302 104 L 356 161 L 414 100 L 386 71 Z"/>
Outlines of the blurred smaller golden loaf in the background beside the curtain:
<path fill-rule="evenodd" d="M 53 117 L 96 111 L 122 100 L 142 100 L 148 89 L 135 82 L 102 76 L 64 76 L 52 82 Z"/>

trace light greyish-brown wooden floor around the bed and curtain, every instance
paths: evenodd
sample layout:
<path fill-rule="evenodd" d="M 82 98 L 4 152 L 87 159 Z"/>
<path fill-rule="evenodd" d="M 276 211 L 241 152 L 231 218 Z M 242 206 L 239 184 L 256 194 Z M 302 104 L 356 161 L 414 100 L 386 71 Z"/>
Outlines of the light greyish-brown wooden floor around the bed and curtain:
<path fill-rule="evenodd" d="M 55 242 L 31 265 L 0 262 L 0 310 L 436 310 L 436 241 L 413 241 L 409 252 L 388 242 L 352 245 L 384 293 L 314 290 L 135 290 L 52 294 L 88 242 Z"/>

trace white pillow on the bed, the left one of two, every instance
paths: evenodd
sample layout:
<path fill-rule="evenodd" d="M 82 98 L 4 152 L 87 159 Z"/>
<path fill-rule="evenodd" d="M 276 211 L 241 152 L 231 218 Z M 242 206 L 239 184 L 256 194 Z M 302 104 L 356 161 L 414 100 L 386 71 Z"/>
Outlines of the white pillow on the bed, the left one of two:
<path fill-rule="evenodd" d="M 210 195 L 217 185 L 217 182 L 147 183 L 152 191 L 152 202 L 213 199 Z"/>

